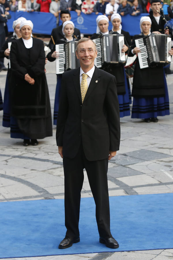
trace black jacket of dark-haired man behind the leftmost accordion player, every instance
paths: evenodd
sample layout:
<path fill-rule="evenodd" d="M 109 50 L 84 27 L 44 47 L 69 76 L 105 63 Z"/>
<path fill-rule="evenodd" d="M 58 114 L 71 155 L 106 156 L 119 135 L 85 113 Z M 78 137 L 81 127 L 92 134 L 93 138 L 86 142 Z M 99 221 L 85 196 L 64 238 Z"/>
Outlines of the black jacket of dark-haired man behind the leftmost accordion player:
<path fill-rule="evenodd" d="M 51 32 L 51 36 L 53 37 L 55 44 L 56 44 L 57 41 L 59 41 L 59 40 L 61 40 L 62 38 L 64 38 L 62 29 L 63 29 L 63 25 L 60 25 L 59 27 L 54 28 L 54 29 L 52 30 L 52 32 Z M 74 28 L 73 37 L 74 37 L 74 38 L 77 38 L 77 39 L 80 39 L 80 31 L 79 31 L 79 29 Z M 52 41 L 52 38 L 50 39 L 50 42 L 49 42 L 49 45 L 48 45 L 48 46 L 49 46 L 50 50 L 52 50 L 52 48 L 53 48 L 53 46 L 54 46 L 53 41 Z"/>

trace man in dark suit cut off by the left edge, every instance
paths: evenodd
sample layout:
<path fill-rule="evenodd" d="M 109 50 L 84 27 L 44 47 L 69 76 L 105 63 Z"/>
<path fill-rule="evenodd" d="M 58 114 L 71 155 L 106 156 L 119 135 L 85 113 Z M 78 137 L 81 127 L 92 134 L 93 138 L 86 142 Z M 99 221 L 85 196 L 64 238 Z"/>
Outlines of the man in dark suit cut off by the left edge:
<path fill-rule="evenodd" d="M 6 23 L 7 19 L 11 18 L 11 15 L 9 12 L 5 10 L 5 7 L 3 6 L 3 3 L 5 3 L 4 0 L 0 0 L 0 48 L 5 42 L 5 28 L 6 28 Z M 7 70 L 3 64 L 3 58 L 0 59 L 0 71 L 1 70 Z"/>

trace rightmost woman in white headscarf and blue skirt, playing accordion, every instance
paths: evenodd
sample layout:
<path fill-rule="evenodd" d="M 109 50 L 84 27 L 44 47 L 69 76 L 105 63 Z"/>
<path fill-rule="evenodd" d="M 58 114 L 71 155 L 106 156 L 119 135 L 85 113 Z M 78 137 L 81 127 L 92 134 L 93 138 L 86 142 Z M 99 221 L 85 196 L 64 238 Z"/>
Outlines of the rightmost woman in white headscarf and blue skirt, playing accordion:
<path fill-rule="evenodd" d="M 140 19 L 141 34 L 135 35 L 132 40 L 129 55 L 140 53 L 135 39 L 144 38 L 151 34 L 151 19 L 143 16 Z M 164 51 L 164 50 L 163 50 Z M 170 55 L 173 50 L 169 51 Z M 141 118 L 145 122 L 158 122 L 157 116 L 170 114 L 169 96 L 163 66 L 140 68 L 137 57 L 133 75 L 133 107 L 131 118 Z"/>

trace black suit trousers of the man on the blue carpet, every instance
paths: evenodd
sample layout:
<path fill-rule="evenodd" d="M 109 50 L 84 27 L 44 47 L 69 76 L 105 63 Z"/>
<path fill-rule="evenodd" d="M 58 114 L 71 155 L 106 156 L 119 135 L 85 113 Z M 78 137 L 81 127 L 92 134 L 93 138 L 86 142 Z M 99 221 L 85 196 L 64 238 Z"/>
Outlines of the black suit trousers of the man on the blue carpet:
<path fill-rule="evenodd" d="M 65 226 L 66 237 L 79 237 L 80 192 L 84 180 L 83 169 L 86 169 L 89 184 L 96 205 L 96 220 L 99 236 L 112 237 L 110 233 L 110 210 L 108 195 L 108 158 L 99 161 L 88 161 L 82 145 L 75 158 L 63 157 L 65 177 Z"/>

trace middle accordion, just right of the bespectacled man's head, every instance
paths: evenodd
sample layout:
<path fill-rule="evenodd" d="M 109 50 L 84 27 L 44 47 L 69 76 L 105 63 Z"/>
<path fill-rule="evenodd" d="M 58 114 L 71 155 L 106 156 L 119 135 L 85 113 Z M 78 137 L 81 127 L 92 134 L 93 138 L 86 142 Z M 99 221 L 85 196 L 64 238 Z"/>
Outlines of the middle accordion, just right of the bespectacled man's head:
<path fill-rule="evenodd" d="M 123 34 L 106 34 L 102 38 L 93 41 L 97 47 L 95 66 L 100 68 L 104 62 L 125 65 L 125 53 L 121 52 L 124 45 Z"/>

